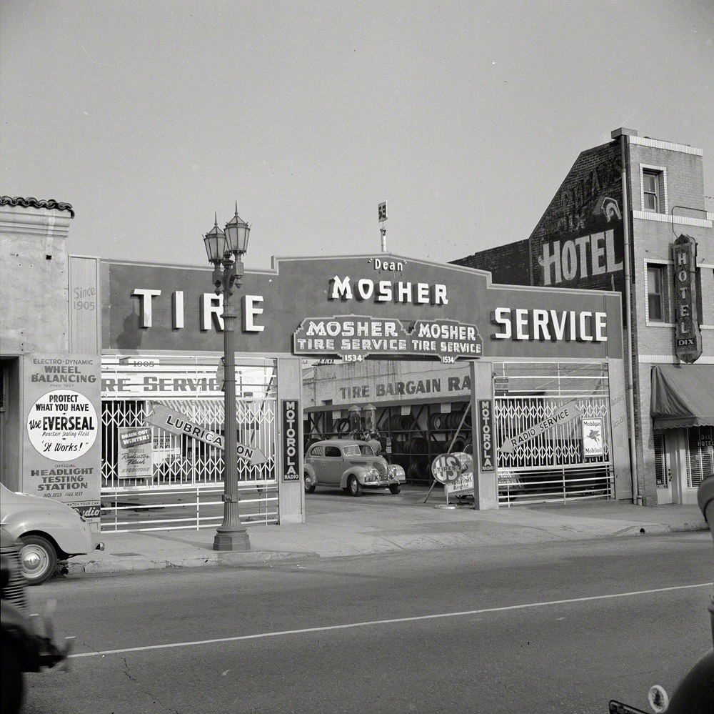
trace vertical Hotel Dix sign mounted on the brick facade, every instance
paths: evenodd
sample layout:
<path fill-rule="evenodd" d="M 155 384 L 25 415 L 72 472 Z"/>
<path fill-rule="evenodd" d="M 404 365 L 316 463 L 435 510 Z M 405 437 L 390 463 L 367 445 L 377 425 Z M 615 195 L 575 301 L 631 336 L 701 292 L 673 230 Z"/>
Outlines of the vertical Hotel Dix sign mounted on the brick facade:
<path fill-rule="evenodd" d="M 702 354 L 697 309 L 697 242 L 682 234 L 672 244 L 675 294 L 675 354 L 682 362 L 696 362 Z"/>

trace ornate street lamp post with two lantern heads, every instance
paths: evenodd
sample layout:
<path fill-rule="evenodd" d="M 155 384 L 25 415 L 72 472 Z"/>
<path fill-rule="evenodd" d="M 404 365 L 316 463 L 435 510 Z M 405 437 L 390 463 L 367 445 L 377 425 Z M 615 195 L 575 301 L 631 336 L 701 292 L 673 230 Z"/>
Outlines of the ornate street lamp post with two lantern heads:
<path fill-rule="evenodd" d="M 248 249 L 251 227 L 236 215 L 226 230 L 216 224 L 203 238 L 208 261 L 213 264 L 213 286 L 223 294 L 223 522 L 213 537 L 213 550 L 251 550 L 246 527 L 241 524 L 238 507 L 238 445 L 236 443 L 236 306 L 233 288 L 241 287 L 243 254 Z"/>

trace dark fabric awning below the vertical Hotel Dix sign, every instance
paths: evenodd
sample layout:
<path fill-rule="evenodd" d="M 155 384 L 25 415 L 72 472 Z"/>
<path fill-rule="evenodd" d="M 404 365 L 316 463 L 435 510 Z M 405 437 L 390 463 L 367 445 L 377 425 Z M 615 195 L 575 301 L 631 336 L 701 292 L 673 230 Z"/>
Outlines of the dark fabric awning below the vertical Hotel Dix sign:
<path fill-rule="evenodd" d="M 650 414 L 655 429 L 714 426 L 714 365 L 653 367 Z"/>

